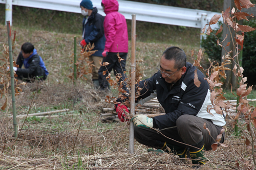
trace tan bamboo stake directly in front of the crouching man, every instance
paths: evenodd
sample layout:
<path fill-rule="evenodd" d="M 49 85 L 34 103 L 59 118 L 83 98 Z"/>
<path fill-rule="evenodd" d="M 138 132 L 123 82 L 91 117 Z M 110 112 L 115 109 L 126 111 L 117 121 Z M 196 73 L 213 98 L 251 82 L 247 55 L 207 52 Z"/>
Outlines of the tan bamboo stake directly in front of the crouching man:
<path fill-rule="evenodd" d="M 132 15 L 132 59 L 131 59 L 131 115 L 135 113 L 135 77 L 136 77 L 136 14 Z M 130 123 L 130 154 L 134 153 L 134 125 Z"/>

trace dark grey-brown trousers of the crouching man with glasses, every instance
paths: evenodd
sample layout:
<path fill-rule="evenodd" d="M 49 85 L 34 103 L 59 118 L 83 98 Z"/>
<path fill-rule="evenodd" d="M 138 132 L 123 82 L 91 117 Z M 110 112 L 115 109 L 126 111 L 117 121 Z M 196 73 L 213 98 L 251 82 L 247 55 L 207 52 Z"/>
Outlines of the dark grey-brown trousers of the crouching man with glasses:
<path fill-rule="evenodd" d="M 213 138 L 203 128 L 204 123 L 206 123 L 206 128 L 209 129 Z M 134 127 L 134 137 L 141 144 L 156 149 L 161 149 L 164 142 L 189 149 L 190 147 L 186 144 L 195 146 L 203 140 L 204 148 L 208 151 L 211 150 L 211 144 L 216 142 L 217 135 L 220 134 L 222 129 L 222 127 L 218 127 L 206 119 L 188 114 L 180 116 L 176 121 L 176 125 L 176 127 L 158 130 L 163 135 L 155 129 Z M 224 142 L 224 135 L 223 132 L 221 143 Z"/>

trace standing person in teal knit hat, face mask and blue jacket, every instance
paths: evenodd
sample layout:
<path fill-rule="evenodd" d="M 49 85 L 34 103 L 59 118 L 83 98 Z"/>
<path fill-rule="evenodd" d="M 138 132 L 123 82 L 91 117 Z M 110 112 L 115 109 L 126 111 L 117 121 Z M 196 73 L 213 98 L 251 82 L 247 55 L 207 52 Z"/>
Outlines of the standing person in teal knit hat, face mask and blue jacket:
<path fill-rule="evenodd" d="M 92 70 L 92 81 L 94 87 L 99 87 L 98 70 L 100 68 L 100 61 L 102 61 L 102 53 L 105 46 L 104 36 L 104 17 L 98 14 L 96 7 L 93 8 L 93 4 L 90 0 L 83 0 L 80 3 L 81 14 L 84 16 L 82 21 L 82 38 L 80 45 L 84 48 L 87 44 L 94 43 L 93 50 L 97 50 L 92 56 L 90 61 L 95 65 Z"/>

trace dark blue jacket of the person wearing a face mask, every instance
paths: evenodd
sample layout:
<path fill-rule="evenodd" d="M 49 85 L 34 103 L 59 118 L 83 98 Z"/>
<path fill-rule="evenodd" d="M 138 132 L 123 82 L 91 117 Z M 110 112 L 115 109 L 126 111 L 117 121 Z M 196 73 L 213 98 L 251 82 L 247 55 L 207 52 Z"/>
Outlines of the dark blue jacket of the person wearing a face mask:
<path fill-rule="evenodd" d="M 102 52 L 104 51 L 105 47 L 105 35 L 104 35 L 104 17 L 98 14 L 98 10 L 95 7 L 93 12 L 90 16 L 88 16 L 88 21 L 86 22 L 87 16 L 83 18 L 82 21 L 82 32 L 83 32 L 83 39 L 86 41 L 87 44 L 89 42 L 91 44 L 94 43 L 93 50 L 98 50 L 93 54 L 93 56 L 102 57 Z M 84 23 L 86 22 L 85 26 Z"/>

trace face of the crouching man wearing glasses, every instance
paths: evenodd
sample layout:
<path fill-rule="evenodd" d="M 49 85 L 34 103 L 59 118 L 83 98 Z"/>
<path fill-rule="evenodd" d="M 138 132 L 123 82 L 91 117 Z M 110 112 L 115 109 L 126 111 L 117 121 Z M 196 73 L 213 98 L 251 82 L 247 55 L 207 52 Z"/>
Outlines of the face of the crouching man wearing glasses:
<path fill-rule="evenodd" d="M 175 61 L 167 60 L 164 58 L 164 56 L 161 57 L 159 69 L 161 70 L 160 72 L 162 74 L 162 77 L 167 83 L 176 83 L 186 72 L 185 66 L 182 68 L 176 68 Z M 164 72 L 171 76 L 167 76 L 166 74 L 164 74 Z"/>

